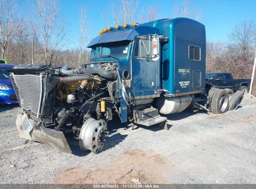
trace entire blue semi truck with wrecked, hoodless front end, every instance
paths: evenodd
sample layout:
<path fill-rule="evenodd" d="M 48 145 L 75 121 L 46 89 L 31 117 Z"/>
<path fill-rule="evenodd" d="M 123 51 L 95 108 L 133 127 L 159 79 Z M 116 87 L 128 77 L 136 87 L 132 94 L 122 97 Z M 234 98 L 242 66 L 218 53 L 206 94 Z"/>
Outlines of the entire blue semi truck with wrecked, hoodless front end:
<path fill-rule="evenodd" d="M 14 67 L 21 138 L 72 152 L 66 139 L 72 136 L 80 149 L 97 153 L 114 114 L 121 122 L 166 126 L 164 115 L 189 106 L 224 113 L 242 100 L 242 92 L 205 88 L 206 32 L 197 21 L 116 25 L 100 31 L 88 47 L 90 63 L 80 68 Z"/>

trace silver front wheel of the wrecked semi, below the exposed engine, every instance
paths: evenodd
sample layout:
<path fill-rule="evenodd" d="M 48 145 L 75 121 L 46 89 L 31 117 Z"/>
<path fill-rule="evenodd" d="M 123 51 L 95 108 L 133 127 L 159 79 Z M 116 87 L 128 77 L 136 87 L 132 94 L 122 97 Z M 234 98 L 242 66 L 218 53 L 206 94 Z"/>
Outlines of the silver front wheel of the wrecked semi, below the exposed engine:
<path fill-rule="evenodd" d="M 79 145 L 82 150 L 91 150 L 97 154 L 103 149 L 107 140 L 107 122 L 103 119 L 87 119 L 79 135 Z"/>

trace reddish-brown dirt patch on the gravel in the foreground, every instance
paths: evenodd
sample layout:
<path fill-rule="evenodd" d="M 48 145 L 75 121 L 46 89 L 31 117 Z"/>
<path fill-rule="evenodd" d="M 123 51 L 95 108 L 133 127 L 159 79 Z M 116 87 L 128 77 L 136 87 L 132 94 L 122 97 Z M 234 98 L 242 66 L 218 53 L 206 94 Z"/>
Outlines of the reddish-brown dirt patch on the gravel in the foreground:
<path fill-rule="evenodd" d="M 165 173 L 173 169 L 153 150 L 131 150 L 112 160 L 107 168 L 71 168 L 57 175 L 54 183 L 167 183 Z"/>

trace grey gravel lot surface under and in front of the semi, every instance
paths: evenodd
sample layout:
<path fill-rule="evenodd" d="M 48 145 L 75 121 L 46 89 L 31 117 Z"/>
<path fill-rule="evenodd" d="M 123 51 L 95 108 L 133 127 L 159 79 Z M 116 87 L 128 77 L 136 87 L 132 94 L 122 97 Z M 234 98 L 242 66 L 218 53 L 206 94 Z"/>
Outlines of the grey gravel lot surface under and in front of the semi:
<path fill-rule="evenodd" d="M 169 130 L 108 126 L 100 154 L 19 139 L 16 106 L 0 106 L 0 183 L 256 183 L 256 98 L 225 114 L 184 111 Z"/>

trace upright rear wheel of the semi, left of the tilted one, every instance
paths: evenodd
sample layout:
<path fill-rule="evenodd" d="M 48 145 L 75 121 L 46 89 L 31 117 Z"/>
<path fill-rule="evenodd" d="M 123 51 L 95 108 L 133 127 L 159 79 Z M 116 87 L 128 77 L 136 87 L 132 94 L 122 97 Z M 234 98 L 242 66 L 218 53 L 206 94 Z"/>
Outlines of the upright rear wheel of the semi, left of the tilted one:
<path fill-rule="evenodd" d="M 217 90 L 211 101 L 211 111 L 214 114 L 225 113 L 229 110 L 229 93 L 225 90 Z"/>

